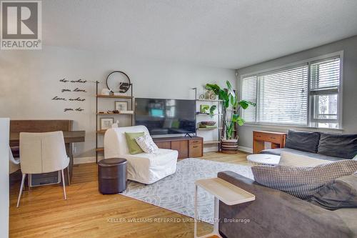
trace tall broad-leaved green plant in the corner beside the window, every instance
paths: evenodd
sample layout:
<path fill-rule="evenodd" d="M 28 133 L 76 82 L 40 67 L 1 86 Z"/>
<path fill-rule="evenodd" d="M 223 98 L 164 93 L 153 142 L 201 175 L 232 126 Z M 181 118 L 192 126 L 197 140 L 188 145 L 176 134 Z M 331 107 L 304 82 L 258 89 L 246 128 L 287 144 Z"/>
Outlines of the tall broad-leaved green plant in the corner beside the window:
<path fill-rule="evenodd" d="M 244 124 L 244 119 L 239 115 L 241 109 L 247 109 L 248 106 L 256 106 L 255 103 L 246 100 L 238 100 L 238 94 L 233 90 L 231 83 L 226 81 L 227 88 L 221 89 L 217 84 L 206 84 L 206 89 L 212 90 L 219 100 L 222 100 L 223 114 L 226 118 L 223 120 L 225 135 L 223 136 L 227 140 L 234 138 L 234 125 L 237 123 L 239 126 Z M 211 106 L 210 114 L 213 116 L 213 112 L 216 109 L 216 105 Z M 230 114 L 230 116 L 228 116 Z M 228 116 L 228 117 L 227 117 Z"/>

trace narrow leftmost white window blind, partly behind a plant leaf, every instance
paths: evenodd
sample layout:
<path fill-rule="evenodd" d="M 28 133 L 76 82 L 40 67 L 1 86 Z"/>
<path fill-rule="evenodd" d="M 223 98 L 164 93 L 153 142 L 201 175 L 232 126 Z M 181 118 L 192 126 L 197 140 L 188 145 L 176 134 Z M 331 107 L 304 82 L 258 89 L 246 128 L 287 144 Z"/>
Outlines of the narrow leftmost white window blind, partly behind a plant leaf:
<path fill-rule="evenodd" d="M 243 78 L 241 98 L 256 103 L 256 76 Z M 242 111 L 242 115 L 246 122 L 256 122 L 256 107 L 248 106 L 247 109 Z"/>

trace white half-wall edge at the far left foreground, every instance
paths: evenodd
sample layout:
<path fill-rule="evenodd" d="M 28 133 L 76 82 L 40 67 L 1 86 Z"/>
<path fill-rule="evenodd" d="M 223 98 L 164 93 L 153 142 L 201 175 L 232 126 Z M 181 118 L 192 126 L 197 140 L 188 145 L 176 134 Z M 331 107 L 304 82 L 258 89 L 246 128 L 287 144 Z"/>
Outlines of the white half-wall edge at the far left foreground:
<path fill-rule="evenodd" d="M 0 237 L 9 237 L 9 119 L 0 118 Z"/>

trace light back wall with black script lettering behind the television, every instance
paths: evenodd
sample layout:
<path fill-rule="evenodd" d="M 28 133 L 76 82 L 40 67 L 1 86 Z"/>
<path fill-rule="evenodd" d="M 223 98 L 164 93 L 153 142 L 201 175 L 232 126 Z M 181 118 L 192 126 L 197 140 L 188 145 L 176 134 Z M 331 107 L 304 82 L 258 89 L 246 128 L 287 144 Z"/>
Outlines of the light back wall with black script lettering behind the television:
<path fill-rule="evenodd" d="M 201 88 L 208 82 L 223 86 L 226 80 L 233 84 L 236 81 L 231 69 L 141 59 L 111 52 L 94 53 L 54 46 L 34 51 L 1 51 L 0 116 L 11 119 L 73 119 L 74 129 L 86 130 L 86 142 L 76 144 L 75 157 L 93 157 L 96 138 L 94 81 L 105 81 L 114 70 L 125 71 L 130 76 L 136 97 L 194 99 L 193 87 Z M 59 81 L 63 78 L 90 82 L 64 86 Z M 76 86 L 88 92 L 61 93 L 63 88 Z M 51 100 L 61 95 L 83 96 L 86 101 Z M 103 109 L 114 109 L 114 100 L 102 105 Z M 81 106 L 85 111 L 64 113 L 66 106 Z M 121 122 L 122 125 L 126 123 L 125 119 Z"/>

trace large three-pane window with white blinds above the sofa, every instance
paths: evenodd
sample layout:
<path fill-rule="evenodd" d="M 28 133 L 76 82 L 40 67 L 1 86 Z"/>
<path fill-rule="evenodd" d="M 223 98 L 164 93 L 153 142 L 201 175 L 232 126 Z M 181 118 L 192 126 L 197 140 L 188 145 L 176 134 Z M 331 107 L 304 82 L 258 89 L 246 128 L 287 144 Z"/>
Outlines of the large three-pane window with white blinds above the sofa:
<path fill-rule="evenodd" d="M 340 56 L 243 76 L 246 122 L 340 128 Z"/>

